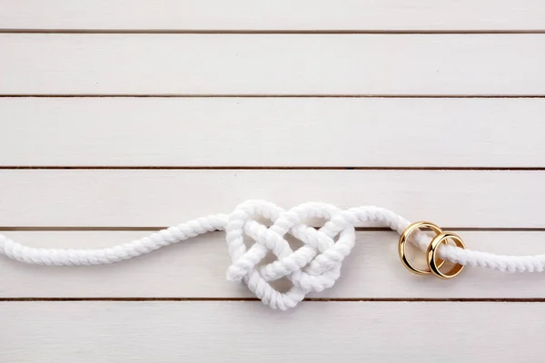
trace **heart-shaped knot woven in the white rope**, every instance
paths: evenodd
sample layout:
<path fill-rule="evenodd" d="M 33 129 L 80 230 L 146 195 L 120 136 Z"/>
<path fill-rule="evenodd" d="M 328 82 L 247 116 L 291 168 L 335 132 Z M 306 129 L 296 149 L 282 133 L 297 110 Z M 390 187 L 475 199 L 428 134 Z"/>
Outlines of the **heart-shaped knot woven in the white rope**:
<path fill-rule="evenodd" d="M 312 291 L 333 286 L 341 273 L 342 260 L 355 241 L 353 214 L 326 203 L 305 203 L 284 211 L 267 201 L 246 201 L 230 215 L 226 239 L 232 265 L 227 279 L 243 281 L 255 296 L 272 309 L 289 309 Z M 326 222 L 315 229 L 305 221 Z M 260 220 L 272 222 L 267 227 Z M 286 240 L 292 235 L 303 245 L 292 250 Z M 247 249 L 244 236 L 253 240 Z M 260 265 L 272 252 L 275 261 Z M 274 280 L 291 280 L 286 292 L 274 289 Z"/>

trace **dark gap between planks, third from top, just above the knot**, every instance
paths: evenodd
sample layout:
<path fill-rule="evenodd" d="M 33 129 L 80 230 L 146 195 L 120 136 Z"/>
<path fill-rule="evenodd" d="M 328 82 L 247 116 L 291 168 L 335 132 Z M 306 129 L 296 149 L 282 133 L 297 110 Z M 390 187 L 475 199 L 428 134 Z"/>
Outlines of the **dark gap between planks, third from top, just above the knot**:
<path fill-rule="evenodd" d="M 477 171 L 543 172 L 545 167 L 520 166 L 152 166 L 152 165 L 1 165 L 0 170 L 354 170 L 354 171 Z"/>

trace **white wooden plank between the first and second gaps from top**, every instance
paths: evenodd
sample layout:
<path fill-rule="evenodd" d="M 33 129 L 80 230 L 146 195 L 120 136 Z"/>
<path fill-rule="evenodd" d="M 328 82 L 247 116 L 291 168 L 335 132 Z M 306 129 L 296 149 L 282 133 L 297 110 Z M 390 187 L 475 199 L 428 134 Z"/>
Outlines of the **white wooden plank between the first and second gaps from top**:
<path fill-rule="evenodd" d="M 0 94 L 545 94 L 545 34 L 1 34 L 0 49 Z"/>

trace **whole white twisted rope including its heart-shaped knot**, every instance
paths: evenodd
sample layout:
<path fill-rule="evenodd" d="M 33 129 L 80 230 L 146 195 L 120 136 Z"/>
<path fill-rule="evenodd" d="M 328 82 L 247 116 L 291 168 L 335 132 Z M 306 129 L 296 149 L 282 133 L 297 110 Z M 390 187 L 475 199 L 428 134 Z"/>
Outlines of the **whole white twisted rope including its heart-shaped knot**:
<path fill-rule="evenodd" d="M 326 222 L 314 229 L 304 224 L 311 219 Z M 272 223 L 270 227 L 262 220 Z M 243 281 L 256 297 L 272 309 L 289 309 L 312 291 L 333 286 L 340 276 L 342 260 L 348 256 L 356 239 L 354 225 L 374 223 L 401 234 L 410 222 L 393 211 L 362 206 L 342 211 L 326 203 L 305 203 L 284 211 L 268 201 L 246 201 L 229 215 L 217 214 L 158 231 L 140 240 L 112 248 L 97 250 L 37 249 L 26 247 L 0 234 L 0 254 L 10 259 L 39 265 L 104 265 L 129 260 L 164 246 L 187 240 L 211 231 L 225 231 L 232 264 L 227 280 Z M 303 242 L 292 250 L 286 235 Z M 248 239 L 253 240 L 250 248 Z M 412 242 L 426 250 L 431 237 L 418 231 Z M 277 260 L 263 264 L 271 251 Z M 462 265 L 510 272 L 545 270 L 545 255 L 501 256 L 474 250 L 462 250 L 453 245 L 441 245 L 442 260 Z M 270 284 L 288 279 L 292 288 L 280 292 Z"/>

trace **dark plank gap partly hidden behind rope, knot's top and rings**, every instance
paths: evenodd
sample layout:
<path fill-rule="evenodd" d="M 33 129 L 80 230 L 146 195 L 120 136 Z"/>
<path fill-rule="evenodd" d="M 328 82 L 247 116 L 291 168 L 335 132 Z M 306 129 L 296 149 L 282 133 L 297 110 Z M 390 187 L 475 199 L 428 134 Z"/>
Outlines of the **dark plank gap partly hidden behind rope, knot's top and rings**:
<path fill-rule="evenodd" d="M 27 231 L 27 232 L 45 232 L 45 231 L 161 231 L 169 226 L 0 226 L 0 231 Z M 314 226 L 319 228 L 319 226 Z M 443 226 L 444 230 L 449 231 L 489 231 L 489 232 L 545 232 L 545 227 L 448 227 Z M 356 227 L 356 231 L 391 231 L 387 227 Z"/>

